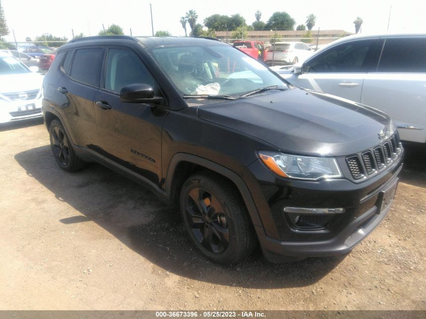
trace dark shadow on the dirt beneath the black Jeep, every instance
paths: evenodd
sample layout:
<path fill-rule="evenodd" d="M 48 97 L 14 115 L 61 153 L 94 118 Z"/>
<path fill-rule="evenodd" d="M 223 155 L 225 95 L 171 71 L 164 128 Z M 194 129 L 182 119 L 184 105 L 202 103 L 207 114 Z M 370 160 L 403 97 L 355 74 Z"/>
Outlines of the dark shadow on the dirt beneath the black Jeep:
<path fill-rule="evenodd" d="M 219 266 L 195 249 L 178 211 L 162 204 L 143 186 L 99 164 L 89 164 L 77 173 L 62 171 L 48 145 L 21 152 L 15 159 L 57 200 L 84 215 L 58 222 L 93 221 L 153 264 L 178 276 L 247 288 L 302 287 L 318 282 L 344 259 L 310 258 L 272 264 L 258 249 L 244 262 Z"/>

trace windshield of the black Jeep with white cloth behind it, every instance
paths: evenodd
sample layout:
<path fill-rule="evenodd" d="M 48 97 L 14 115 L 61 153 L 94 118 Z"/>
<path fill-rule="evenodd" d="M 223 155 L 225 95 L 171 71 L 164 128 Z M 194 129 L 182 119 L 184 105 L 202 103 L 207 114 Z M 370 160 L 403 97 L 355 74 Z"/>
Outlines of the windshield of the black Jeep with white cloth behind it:
<path fill-rule="evenodd" d="M 149 52 L 182 95 L 236 97 L 275 85 L 287 88 L 267 67 L 231 46 L 156 47 Z"/>

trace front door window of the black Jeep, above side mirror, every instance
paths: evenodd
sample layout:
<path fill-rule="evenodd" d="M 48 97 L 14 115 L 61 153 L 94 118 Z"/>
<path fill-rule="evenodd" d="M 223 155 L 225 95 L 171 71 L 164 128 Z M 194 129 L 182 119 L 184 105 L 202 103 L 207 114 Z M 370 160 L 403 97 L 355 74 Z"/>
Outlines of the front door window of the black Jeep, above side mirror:
<path fill-rule="evenodd" d="M 122 49 L 109 49 L 106 59 L 105 89 L 120 92 L 125 86 L 135 83 L 154 87 L 154 78 L 135 53 Z"/>

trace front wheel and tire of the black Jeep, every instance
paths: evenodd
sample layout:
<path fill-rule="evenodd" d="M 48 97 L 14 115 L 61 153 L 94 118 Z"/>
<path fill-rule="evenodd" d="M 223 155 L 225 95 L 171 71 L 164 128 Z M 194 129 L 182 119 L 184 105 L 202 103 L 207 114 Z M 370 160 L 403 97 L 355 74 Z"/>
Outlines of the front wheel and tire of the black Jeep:
<path fill-rule="evenodd" d="M 209 172 L 188 178 L 180 212 L 192 241 L 213 262 L 231 265 L 253 251 L 255 235 L 246 207 L 226 179 Z"/>

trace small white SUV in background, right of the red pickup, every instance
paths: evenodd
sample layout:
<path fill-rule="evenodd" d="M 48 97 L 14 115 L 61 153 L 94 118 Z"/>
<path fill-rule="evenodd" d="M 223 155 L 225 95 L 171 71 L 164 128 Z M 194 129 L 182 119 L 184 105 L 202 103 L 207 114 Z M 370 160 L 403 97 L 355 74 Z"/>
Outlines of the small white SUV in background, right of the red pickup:
<path fill-rule="evenodd" d="M 313 51 L 303 42 L 275 42 L 266 51 L 268 65 L 286 65 L 302 62 L 311 56 Z"/>

